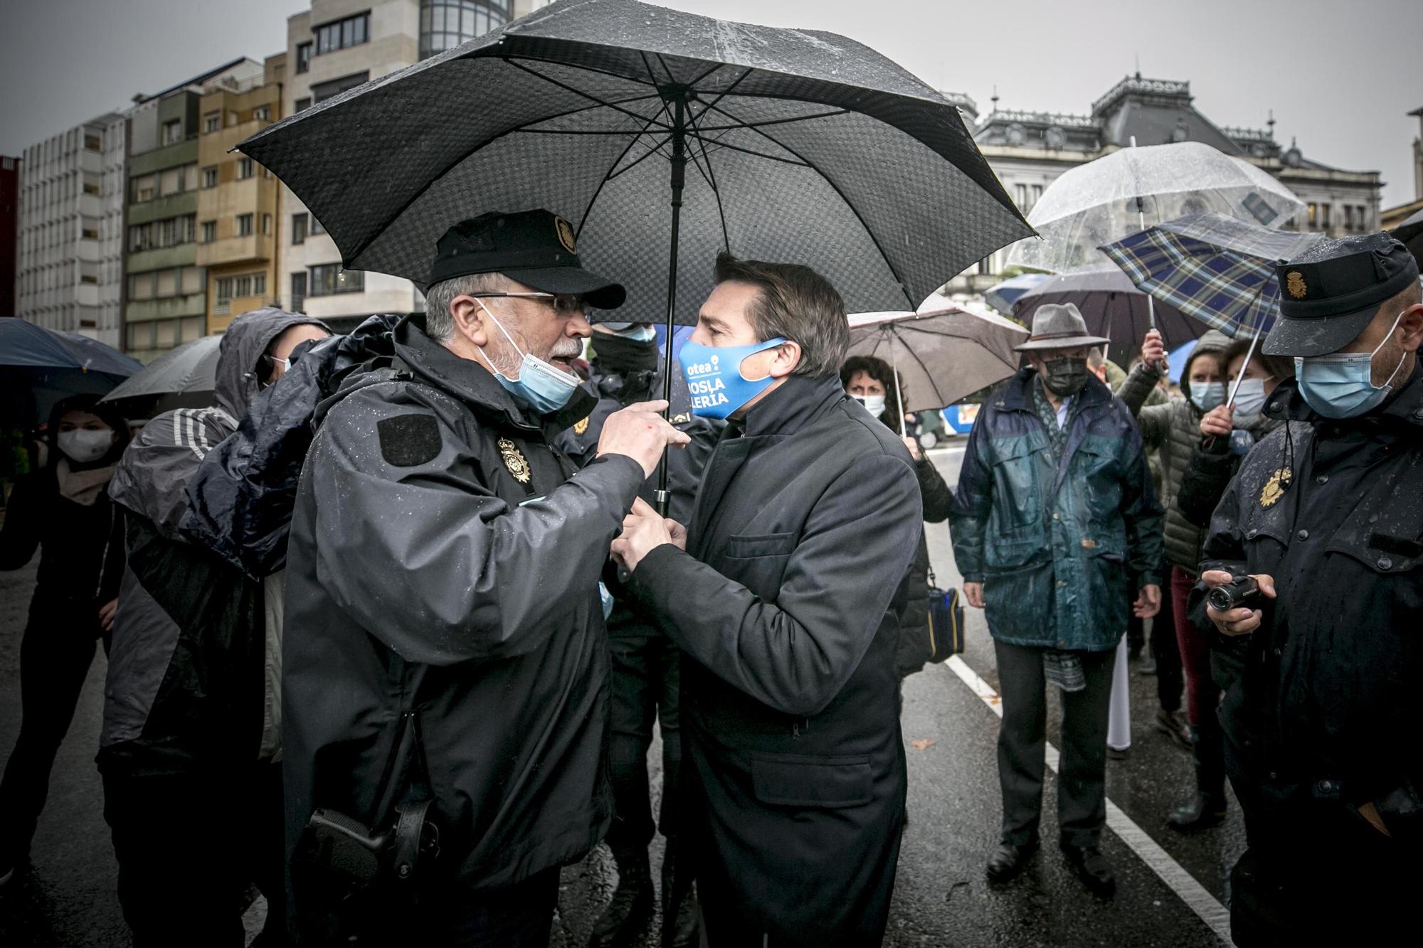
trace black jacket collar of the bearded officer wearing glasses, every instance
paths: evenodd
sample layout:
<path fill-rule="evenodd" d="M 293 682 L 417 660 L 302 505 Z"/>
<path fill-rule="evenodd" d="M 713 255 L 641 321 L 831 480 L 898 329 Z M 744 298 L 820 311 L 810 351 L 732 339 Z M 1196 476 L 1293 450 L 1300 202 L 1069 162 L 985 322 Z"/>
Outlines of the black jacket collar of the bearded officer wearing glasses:
<path fill-rule="evenodd" d="M 472 359 L 461 359 L 425 335 L 423 315 L 407 316 L 396 326 L 396 357 L 420 381 L 445 391 L 475 410 L 477 414 L 525 431 L 546 426 L 565 428 L 586 417 L 598 399 L 581 386 L 568 404 L 549 416 L 536 416 L 521 406 L 488 369 Z"/>

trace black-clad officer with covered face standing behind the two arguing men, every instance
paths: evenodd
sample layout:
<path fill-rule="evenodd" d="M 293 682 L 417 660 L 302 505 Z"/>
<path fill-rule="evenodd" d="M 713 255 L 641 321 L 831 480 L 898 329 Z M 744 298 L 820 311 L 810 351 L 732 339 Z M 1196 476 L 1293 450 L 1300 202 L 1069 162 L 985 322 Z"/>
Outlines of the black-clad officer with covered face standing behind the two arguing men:
<path fill-rule="evenodd" d="M 598 455 L 598 440 L 612 413 L 660 397 L 655 394 L 662 391 L 659 347 L 657 335 L 647 323 L 593 325 L 589 384 L 598 393 L 598 406 L 556 440 L 558 447 L 573 463 L 583 465 Z M 669 416 L 672 424 L 692 438 L 684 450 L 672 451 L 667 457 L 667 514 L 679 522 L 687 522 L 702 468 L 726 426 L 692 414 L 687 383 L 676 370 Z M 649 480 L 639 494 L 652 502 L 653 488 L 655 481 Z M 635 611 L 628 602 L 616 601 L 608 615 L 608 651 L 612 658 L 608 757 L 613 784 L 613 823 L 608 828 L 606 843 L 618 864 L 618 888 L 593 925 L 589 944 L 592 948 L 616 948 L 635 944 L 642 935 L 653 907 L 647 846 L 653 833 L 660 830 L 667 840 L 662 860 L 662 944 L 665 948 L 684 948 L 697 942 L 697 924 L 696 898 L 689 895 L 690 881 L 682 878 L 680 885 L 675 881 L 676 867 L 683 863 L 677 833 L 677 783 L 682 770 L 677 646 L 649 616 Z M 647 749 L 652 746 L 653 722 L 662 734 L 662 807 L 656 823 L 647 783 Z"/>

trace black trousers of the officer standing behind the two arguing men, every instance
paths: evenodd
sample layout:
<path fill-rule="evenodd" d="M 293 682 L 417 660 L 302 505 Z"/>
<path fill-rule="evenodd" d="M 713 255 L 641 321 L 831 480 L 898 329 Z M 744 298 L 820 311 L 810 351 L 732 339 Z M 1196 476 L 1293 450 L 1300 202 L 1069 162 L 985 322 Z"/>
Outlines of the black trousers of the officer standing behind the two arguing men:
<path fill-rule="evenodd" d="M 677 649 L 657 629 L 619 608 L 608 632 L 612 655 L 609 763 L 615 818 L 608 846 L 615 854 L 646 850 L 653 833 L 676 830 L 682 732 L 677 725 Z M 652 818 L 647 749 L 652 727 L 662 727 L 662 811 Z"/>

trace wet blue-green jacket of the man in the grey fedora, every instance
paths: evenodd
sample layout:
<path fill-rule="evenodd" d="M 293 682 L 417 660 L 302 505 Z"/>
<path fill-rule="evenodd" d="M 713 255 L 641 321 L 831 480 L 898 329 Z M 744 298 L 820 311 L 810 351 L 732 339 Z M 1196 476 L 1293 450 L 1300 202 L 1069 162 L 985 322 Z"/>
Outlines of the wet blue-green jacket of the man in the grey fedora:
<path fill-rule="evenodd" d="M 995 639 L 1111 649 L 1131 592 L 1161 582 L 1161 508 L 1141 436 L 1107 386 L 1089 379 L 1054 465 L 1035 384 L 1035 370 L 1019 370 L 973 423 L 949 515 L 953 558 L 965 582 L 983 584 Z"/>

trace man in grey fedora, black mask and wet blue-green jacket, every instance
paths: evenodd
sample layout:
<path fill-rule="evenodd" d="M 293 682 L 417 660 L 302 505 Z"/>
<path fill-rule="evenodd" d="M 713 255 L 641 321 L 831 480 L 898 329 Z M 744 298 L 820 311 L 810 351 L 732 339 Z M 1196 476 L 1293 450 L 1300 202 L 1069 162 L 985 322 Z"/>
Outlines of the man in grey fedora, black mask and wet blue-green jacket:
<path fill-rule="evenodd" d="M 986 612 L 1003 695 L 1003 827 L 988 877 L 1013 878 L 1039 846 L 1052 682 L 1063 692 L 1060 846 L 1103 895 L 1116 891 L 1099 848 L 1113 653 L 1128 608 L 1148 618 L 1161 606 L 1161 507 L 1141 436 L 1087 369 L 1106 342 L 1070 303 L 1037 309 L 1017 347 L 1030 364 L 983 403 L 951 514 L 963 594 Z"/>

